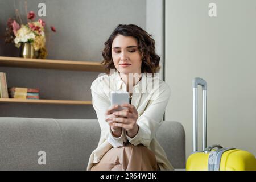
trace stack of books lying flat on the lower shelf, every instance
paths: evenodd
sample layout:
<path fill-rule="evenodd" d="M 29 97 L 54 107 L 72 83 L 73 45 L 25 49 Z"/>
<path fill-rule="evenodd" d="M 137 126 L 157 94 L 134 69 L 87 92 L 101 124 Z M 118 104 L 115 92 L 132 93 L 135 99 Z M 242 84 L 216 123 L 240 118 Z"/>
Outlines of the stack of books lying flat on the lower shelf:
<path fill-rule="evenodd" d="M 39 89 L 12 87 L 8 89 L 10 98 L 39 99 Z"/>

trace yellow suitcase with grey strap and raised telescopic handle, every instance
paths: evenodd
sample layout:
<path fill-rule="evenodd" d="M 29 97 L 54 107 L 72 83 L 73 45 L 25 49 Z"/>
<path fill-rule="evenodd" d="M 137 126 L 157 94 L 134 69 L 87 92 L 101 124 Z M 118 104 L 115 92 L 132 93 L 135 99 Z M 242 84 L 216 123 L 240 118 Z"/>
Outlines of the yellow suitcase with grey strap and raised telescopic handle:
<path fill-rule="evenodd" d="M 203 87 L 203 150 L 197 151 L 197 85 Z M 207 83 L 193 80 L 193 153 L 186 163 L 187 171 L 256 171 L 256 159 L 248 151 L 207 146 Z"/>

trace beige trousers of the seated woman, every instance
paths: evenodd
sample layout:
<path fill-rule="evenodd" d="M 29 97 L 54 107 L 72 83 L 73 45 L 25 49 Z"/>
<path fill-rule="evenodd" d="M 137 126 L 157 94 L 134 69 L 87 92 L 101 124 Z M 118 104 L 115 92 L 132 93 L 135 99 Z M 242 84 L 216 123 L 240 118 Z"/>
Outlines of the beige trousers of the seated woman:
<path fill-rule="evenodd" d="M 94 164 L 92 171 L 156 171 L 159 170 L 155 154 L 147 147 L 126 143 L 123 147 L 111 148 Z"/>

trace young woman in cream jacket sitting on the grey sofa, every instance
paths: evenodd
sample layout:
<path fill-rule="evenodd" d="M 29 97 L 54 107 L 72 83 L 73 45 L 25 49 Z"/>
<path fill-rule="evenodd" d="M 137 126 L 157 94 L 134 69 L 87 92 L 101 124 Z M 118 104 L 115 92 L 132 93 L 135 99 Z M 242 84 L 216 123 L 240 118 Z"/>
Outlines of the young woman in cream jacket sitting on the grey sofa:
<path fill-rule="evenodd" d="M 87 169 L 174 169 L 155 138 L 171 90 L 155 74 L 160 57 L 154 39 L 136 25 L 120 24 L 105 42 L 102 56 L 109 74 L 91 86 L 101 137 Z M 130 93 L 130 104 L 115 111 L 119 106 L 110 107 L 110 92 L 120 90 Z"/>

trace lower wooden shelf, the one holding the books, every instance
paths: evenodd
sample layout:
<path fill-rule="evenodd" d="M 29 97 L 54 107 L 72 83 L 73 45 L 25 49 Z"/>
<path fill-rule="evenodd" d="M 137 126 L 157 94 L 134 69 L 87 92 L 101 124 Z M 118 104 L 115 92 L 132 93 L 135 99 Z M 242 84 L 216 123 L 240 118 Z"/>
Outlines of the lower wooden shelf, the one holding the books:
<path fill-rule="evenodd" d="M 65 105 L 92 105 L 92 101 L 71 101 L 71 100 L 33 100 L 18 98 L 0 98 L 0 103 L 32 103 L 32 104 L 65 104 Z"/>

